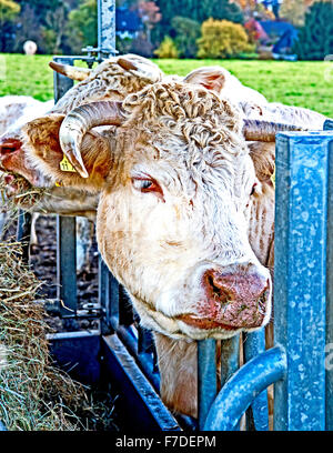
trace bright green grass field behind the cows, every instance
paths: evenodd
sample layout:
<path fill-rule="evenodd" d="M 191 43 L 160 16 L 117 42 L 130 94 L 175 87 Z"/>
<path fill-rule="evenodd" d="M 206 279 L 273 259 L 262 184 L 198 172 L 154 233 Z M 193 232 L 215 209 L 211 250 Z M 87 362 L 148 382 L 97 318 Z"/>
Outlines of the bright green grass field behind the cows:
<path fill-rule="evenodd" d="M 53 97 L 50 56 L 0 54 L 0 95 Z M 185 76 L 194 68 L 221 64 L 268 100 L 306 107 L 333 117 L 333 62 L 246 60 L 154 60 L 165 73 Z"/>

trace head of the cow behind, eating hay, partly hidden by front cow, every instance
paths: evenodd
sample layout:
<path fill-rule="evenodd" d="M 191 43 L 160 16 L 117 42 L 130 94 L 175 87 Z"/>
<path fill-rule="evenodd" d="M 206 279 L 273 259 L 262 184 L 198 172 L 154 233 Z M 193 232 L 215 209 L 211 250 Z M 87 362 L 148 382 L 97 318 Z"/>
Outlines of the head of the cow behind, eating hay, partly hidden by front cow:
<path fill-rule="evenodd" d="M 37 153 L 48 152 L 49 158 L 56 155 L 57 159 L 57 153 L 54 154 L 53 150 L 59 148 L 59 128 L 65 113 L 87 102 L 102 99 L 122 100 L 129 93 L 137 92 L 147 84 L 161 80 L 163 73 L 150 60 L 133 54 L 110 58 L 93 70 L 56 62 L 51 62 L 50 66 L 53 70 L 79 80 L 80 83 L 70 89 L 46 118 L 28 123 L 27 120 L 24 123 L 16 123 L 1 135 L 0 169 L 10 173 L 4 177 L 7 195 L 12 197 L 13 200 L 17 197 L 23 209 L 42 208 L 49 212 L 49 208 L 52 207 L 57 212 L 63 212 L 64 198 L 72 199 L 73 193 L 75 193 L 78 202 L 79 200 L 83 201 L 84 211 L 87 211 L 88 200 L 93 200 L 93 198 L 90 194 L 84 195 L 82 192 L 84 188 L 80 188 L 81 192 L 54 188 L 54 180 L 46 178 L 44 172 L 40 171 L 34 165 L 34 161 L 28 158 L 28 148 L 36 147 Z M 48 138 L 47 141 L 44 140 L 46 137 Z M 27 191 L 31 185 L 48 188 L 44 197 L 48 200 L 39 200 L 38 207 L 31 204 L 33 203 L 31 198 L 29 205 L 22 203 L 26 199 L 21 198 L 20 189 L 23 188 Z M 54 195 L 52 200 L 48 197 L 50 190 Z M 59 205 L 57 205 L 57 200 Z M 91 205 L 91 210 L 94 209 L 95 201 Z"/>

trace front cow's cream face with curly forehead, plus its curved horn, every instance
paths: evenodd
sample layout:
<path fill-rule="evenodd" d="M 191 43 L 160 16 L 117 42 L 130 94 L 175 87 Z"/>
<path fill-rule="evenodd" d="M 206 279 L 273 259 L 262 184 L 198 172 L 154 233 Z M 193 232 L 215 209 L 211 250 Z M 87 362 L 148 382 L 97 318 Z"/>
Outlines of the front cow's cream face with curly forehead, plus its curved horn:
<path fill-rule="evenodd" d="M 100 191 L 99 248 L 143 325 L 174 339 L 264 325 L 270 275 L 248 240 L 259 182 L 238 113 L 208 90 L 175 82 L 132 94 L 122 108 L 121 115 L 114 103 L 84 105 L 63 121 L 60 142 L 77 174 L 47 154 L 30 158 L 63 184 Z M 83 117 L 89 127 L 77 128 Z M 94 132 L 87 145 L 99 121 L 121 125 L 113 140 Z"/>

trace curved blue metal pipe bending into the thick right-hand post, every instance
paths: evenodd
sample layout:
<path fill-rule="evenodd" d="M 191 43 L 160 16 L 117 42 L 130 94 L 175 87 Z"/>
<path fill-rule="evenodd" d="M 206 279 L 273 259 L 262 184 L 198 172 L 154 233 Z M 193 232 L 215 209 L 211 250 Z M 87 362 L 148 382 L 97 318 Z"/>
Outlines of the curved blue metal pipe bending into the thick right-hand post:
<path fill-rule="evenodd" d="M 235 431 L 242 414 L 268 385 L 281 380 L 286 358 L 273 348 L 243 365 L 222 387 L 212 404 L 204 431 Z"/>

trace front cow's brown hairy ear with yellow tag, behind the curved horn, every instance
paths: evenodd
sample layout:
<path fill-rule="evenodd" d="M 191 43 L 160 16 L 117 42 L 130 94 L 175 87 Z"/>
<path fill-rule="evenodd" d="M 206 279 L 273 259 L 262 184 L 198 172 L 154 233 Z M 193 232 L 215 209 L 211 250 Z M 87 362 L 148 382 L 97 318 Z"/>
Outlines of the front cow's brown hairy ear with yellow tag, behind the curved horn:
<path fill-rule="evenodd" d="M 111 169 L 111 141 L 93 130 L 84 135 L 81 152 L 89 178 L 83 179 L 71 165 L 60 147 L 59 130 L 63 119 L 63 114 L 49 114 L 30 121 L 26 125 L 29 160 L 56 185 L 99 191 Z"/>

